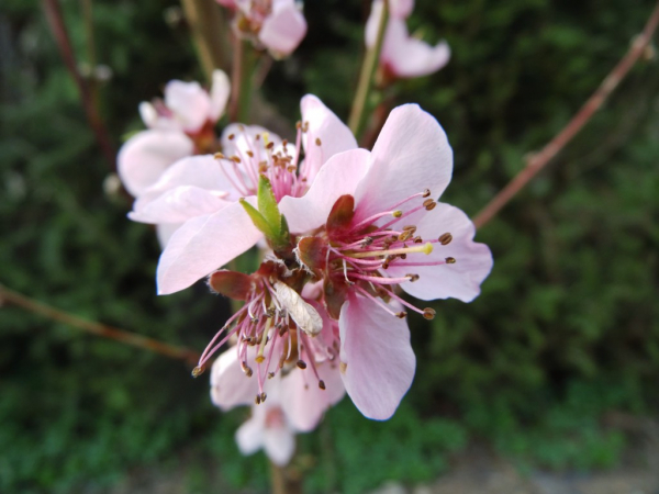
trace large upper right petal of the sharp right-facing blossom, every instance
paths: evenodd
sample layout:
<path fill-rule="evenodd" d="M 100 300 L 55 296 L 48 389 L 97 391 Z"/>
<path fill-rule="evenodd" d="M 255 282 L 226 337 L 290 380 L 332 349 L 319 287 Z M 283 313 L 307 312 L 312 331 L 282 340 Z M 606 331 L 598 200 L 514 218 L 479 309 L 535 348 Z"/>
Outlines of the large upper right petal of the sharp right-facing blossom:
<path fill-rule="evenodd" d="M 355 192 L 355 221 L 389 211 L 413 194 L 438 198 L 453 172 L 453 150 L 435 117 L 416 104 L 394 108 L 373 146 L 372 165 Z"/>

